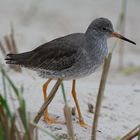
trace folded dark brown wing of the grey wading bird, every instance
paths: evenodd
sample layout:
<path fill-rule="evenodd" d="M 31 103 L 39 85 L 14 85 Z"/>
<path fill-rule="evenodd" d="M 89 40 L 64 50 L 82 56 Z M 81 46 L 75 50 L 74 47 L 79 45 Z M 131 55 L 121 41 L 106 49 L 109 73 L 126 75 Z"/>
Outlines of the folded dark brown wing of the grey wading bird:
<path fill-rule="evenodd" d="M 77 46 L 72 42 L 58 39 L 46 43 L 35 50 L 28 59 L 30 67 L 50 71 L 60 71 L 71 67 L 77 57 Z"/>

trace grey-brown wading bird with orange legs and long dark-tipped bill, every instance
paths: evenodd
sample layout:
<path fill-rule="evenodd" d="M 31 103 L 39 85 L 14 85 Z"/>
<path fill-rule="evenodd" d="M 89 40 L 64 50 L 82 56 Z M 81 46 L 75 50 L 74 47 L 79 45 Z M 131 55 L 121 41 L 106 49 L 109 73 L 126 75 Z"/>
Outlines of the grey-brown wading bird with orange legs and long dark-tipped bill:
<path fill-rule="evenodd" d="M 76 80 L 95 72 L 108 55 L 107 39 L 116 37 L 136 45 L 135 42 L 114 32 L 112 22 L 104 17 L 94 19 L 84 33 L 72 33 L 44 43 L 32 51 L 7 54 L 7 64 L 32 69 L 42 78 L 48 79 L 42 86 L 44 101 L 51 80 L 63 77 L 72 80 L 72 96 L 77 108 L 79 124 L 85 126 L 76 93 Z M 48 124 L 55 123 L 48 108 L 44 112 Z"/>

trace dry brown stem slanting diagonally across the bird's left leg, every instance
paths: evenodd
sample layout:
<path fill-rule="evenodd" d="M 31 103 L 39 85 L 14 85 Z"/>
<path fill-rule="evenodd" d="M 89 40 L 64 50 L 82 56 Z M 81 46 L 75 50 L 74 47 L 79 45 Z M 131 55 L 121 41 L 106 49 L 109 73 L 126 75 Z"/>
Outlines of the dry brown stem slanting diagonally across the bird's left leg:
<path fill-rule="evenodd" d="M 37 113 L 37 115 L 34 118 L 34 123 L 38 123 L 38 121 L 40 120 L 41 116 L 43 115 L 45 109 L 48 107 L 48 105 L 50 104 L 50 102 L 53 100 L 60 84 L 62 82 L 62 79 L 58 79 L 56 84 L 54 85 L 54 87 L 52 88 L 47 100 L 43 103 L 43 105 L 41 106 L 39 112 Z"/>

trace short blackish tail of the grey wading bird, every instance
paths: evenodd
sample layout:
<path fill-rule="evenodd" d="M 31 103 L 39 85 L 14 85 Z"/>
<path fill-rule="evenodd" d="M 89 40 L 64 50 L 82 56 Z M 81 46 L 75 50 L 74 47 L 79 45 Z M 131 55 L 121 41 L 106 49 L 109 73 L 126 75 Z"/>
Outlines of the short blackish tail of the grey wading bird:
<path fill-rule="evenodd" d="M 15 64 L 15 65 L 26 65 L 31 52 L 25 52 L 20 54 L 7 54 L 5 60 L 6 64 Z"/>

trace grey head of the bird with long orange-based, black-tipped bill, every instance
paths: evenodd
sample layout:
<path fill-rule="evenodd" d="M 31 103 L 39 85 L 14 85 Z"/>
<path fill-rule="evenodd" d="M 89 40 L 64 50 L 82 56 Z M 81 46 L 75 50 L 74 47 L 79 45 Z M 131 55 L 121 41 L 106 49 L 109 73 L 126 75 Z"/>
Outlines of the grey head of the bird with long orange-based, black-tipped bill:
<path fill-rule="evenodd" d="M 88 27 L 87 32 L 94 31 L 98 37 L 117 37 L 119 39 L 125 40 L 129 43 L 135 44 L 135 42 L 125 38 L 119 33 L 114 32 L 113 25 L 107 18 L 97 18 Z"/>

